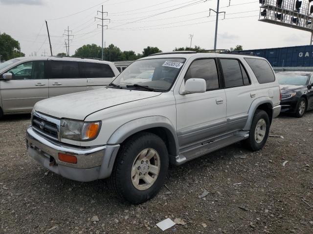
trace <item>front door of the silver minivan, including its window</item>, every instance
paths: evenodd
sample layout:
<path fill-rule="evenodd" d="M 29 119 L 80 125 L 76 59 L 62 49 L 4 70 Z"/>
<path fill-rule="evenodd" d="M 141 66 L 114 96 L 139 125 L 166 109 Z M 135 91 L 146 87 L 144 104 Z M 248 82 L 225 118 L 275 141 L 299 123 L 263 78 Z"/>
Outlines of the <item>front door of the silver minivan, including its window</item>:
<path fill-rule="evenodd" d="M 4 113 L 31 112 L 37 101 L 48 98 L 46 61 L 23 62 L 4 73 L 12 73 L 12 80 L 1 80 Z"/>

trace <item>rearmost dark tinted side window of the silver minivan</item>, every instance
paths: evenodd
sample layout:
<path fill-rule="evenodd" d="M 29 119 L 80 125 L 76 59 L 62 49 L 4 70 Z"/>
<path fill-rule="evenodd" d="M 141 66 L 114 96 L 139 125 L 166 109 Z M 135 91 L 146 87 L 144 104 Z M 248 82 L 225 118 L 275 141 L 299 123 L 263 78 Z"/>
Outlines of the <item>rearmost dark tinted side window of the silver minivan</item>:
<path fill-rule="evenodd" d="M 81 75 L 85 78 L 112 78 L 114 73 L 108 64 L 79 62 Z"/>

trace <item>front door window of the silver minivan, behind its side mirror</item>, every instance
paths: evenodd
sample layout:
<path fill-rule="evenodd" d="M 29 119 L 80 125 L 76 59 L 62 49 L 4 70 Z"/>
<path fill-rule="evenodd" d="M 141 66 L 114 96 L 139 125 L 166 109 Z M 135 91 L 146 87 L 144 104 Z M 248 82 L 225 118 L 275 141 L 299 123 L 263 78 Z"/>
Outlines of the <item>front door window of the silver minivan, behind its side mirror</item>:
<path fill-rule="evenodd" d="M 12 73 L 12 79 L 45 79 L 45 62 L 30 61 L 19 64 L 11 68 L 8 73 Z"/>

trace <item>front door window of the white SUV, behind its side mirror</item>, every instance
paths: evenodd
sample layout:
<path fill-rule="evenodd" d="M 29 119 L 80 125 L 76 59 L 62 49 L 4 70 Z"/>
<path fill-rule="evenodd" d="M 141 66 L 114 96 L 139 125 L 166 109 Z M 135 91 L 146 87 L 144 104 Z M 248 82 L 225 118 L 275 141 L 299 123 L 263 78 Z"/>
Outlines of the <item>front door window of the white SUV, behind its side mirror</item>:
<path fill-rule="evenodd" d="M 193 61 L 185 75 L 185 82 L 190 78 L 204 79 L 206 91 L 218 89 L 220 85 L 215 59 L 198 59 Z"/>

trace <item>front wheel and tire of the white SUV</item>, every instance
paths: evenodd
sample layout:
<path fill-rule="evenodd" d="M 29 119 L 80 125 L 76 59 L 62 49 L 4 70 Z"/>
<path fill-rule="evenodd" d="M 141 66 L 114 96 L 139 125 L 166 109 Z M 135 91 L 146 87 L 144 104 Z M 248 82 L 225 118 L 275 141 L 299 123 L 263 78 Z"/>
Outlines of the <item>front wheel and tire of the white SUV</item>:
<path fill-rule="evenodd" d="M 152 133 L 138 133 L 122 144 L 112 170 L 111 187 L 132 204 L 145 202 L 164 185 L 168 164 L 164 141 Z"/>

